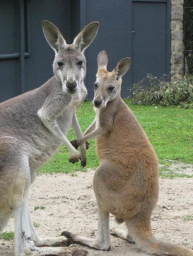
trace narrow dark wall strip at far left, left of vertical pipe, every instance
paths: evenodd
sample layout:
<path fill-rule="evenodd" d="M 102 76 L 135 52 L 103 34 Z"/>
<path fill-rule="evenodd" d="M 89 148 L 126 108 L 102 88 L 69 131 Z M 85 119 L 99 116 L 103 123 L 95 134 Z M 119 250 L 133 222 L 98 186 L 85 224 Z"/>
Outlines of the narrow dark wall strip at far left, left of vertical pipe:
<path fill-rule="evenodd" d="M 19 5 L 0 1 L 0 102 L 18 95 L 19 84 Z M 16 26 L 17 24 L 17 26 Z M 10 61 L 12 58 L 12 61 Z"/>

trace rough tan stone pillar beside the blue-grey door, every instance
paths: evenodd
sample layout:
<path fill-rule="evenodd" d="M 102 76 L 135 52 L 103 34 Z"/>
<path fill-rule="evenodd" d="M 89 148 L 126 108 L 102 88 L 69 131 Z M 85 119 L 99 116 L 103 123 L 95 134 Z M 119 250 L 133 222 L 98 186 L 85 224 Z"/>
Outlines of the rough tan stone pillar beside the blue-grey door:
<path fill-rule="evenodd" d="M 171 80 L 183 79 L 183 0 L 171 0 Z"/>

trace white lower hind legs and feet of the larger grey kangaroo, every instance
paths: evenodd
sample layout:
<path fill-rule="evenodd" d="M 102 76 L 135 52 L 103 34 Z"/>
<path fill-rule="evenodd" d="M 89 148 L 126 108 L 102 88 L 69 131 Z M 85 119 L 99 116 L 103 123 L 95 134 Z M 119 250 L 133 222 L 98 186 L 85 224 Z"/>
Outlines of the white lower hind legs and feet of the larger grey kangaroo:
<path fill-rule="evenodd" d="M 28 158 L 24 155 L 20 158 L 21 166 L 18 170 L 19 176 L 25 181 L 19 183 L 21 194 L 21 204 L 18 204 L 15 210 L 15 255 L 61 255 L 69 252 L 72 255 L 86 256 L 86 251 L 83 249 L 73 249 L 69 247 L 49 247 L 52 245 L 61 244 L 68 246 L 70 241 L 64 236 L 56 238 L 39 238 L 33 227 L 33 222 L 29 211 L 29 188 L 31 184 L 30 168 Z M 19 189 L 18 186 L 18 189 Z M 39 247 L 45 246 L 45 247 Z M 47 246 L 47 247 L 46 247 Z"/>

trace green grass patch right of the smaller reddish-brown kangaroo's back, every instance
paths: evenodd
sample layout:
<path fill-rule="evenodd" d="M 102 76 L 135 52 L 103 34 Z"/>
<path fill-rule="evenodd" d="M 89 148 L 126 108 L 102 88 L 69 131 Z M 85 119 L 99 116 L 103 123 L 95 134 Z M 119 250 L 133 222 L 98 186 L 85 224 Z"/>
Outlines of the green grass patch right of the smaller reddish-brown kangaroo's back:
<path fill-rule="evenodd" d="M 169 159 L 193 163 L 193 111 L 191 109 L 155 108 L 132 104 L 129 106 L 154 146 L 160 162 Z"/>

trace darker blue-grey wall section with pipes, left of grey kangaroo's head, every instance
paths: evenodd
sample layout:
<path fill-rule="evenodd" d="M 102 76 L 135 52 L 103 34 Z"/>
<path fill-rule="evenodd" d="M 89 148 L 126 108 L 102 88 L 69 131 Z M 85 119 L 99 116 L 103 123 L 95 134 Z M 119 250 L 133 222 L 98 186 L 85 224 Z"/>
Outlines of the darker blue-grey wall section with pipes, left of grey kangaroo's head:
<path fill-rule="evenodd" d="M 39 87 L 53 76 L 54 52 L 42 32 L 49 20 L 69 42 L 70 0 L 0 1 L 0 102 Z"/>

